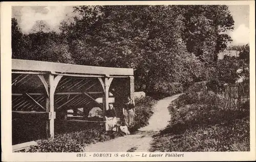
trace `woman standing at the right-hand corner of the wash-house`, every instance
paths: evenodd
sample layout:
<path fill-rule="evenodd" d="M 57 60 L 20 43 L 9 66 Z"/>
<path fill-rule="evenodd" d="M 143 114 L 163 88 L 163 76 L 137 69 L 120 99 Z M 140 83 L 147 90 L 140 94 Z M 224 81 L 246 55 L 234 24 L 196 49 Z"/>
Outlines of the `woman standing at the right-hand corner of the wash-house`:
<path fill-rule="evenodd" d="M 131 98 L 127 98 L 127 102 L 124 104 L 123 107 L 123 116 L 124 116 L 124 122 L 127 127 L 133 127 L 134 126 L 134 117 L 136 116 L 135 113 L 135 106 L 132 102 Z"/>

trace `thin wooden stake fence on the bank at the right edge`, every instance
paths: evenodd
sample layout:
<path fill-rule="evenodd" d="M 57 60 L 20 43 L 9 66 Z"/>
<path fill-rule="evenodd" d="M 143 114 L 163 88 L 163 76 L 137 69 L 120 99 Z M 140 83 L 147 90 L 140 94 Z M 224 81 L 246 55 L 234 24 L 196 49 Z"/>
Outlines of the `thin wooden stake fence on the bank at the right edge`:
<path fill-rule="evenodd" d="M 205 86 L 206 94 L 208 94 L 209 91 L 223 96 L 226 101 L 226 109 L 240 109 L 242 104 L 250 99 L 249 84 Z"/>

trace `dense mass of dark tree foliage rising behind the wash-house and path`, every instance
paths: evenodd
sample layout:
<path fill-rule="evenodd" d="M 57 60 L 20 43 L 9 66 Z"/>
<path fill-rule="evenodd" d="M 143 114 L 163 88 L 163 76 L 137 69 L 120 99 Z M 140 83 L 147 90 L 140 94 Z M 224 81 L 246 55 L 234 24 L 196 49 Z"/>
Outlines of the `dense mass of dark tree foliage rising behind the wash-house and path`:
<path fill-rule="evenodd" d="M 136 90 L 152 92 L 210 77 L 233 29 L 225 5 L 78 6 L 74 15 L 60 34 L 44 22 L 22 34 L 13 19 L 13 58 L 134 68 Z"/>

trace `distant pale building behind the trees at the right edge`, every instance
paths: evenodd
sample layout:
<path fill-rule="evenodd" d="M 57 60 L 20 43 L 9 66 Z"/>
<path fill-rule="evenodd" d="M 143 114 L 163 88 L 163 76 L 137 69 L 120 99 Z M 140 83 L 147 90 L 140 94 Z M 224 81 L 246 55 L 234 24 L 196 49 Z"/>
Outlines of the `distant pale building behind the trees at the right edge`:
<path fill-rule="evenodd" d="M 218 59 L 222 60 L 224 56 L 239 57 L 239 53 L 243 50 L 249 50 L 249 45 L 246 46 L 228 46 L 227 49 L 220 52 Z"/>

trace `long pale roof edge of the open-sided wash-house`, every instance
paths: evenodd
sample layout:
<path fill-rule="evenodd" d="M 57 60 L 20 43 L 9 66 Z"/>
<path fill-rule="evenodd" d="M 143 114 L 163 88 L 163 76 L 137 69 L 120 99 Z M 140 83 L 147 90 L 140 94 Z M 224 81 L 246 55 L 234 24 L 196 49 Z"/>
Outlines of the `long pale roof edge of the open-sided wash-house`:
<path fill-rule="evenodd" d="M 133 75 L 132 68 L 112 68 L 99 66 L 84 66 L 63 63 L 53 63 L 33 60 L 12 59 L 12 70 L 17 71 L 40 71 L 40 72 L 58 72 L 61 74 L 89 74 L 102 76 L 130 76 Z"/>

